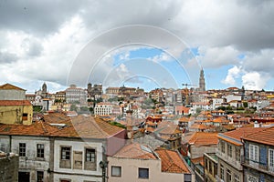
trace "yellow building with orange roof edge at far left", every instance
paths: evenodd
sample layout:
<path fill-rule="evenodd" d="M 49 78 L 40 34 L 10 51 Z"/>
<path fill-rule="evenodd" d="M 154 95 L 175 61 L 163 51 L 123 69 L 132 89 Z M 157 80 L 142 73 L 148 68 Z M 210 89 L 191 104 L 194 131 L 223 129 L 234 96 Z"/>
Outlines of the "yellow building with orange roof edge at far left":
<path fill-rule="evenodd" d="M 33 107 L 28 100 L 0 100 L 0 123 L 31 125 Z"/>

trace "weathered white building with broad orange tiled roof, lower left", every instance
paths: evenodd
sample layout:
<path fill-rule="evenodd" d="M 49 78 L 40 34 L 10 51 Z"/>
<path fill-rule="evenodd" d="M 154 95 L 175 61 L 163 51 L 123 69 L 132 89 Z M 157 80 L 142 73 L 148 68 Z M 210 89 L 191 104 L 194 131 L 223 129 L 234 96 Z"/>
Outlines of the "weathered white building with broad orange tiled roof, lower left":
<path fill-rule="evenodd" d="M 125 130 L 91 116 L 40 116 L 31 126 L 0 125 L 1 150 L 19 154 L 24 182 L 101 181 L 100 161 L 125 143 Z"/>

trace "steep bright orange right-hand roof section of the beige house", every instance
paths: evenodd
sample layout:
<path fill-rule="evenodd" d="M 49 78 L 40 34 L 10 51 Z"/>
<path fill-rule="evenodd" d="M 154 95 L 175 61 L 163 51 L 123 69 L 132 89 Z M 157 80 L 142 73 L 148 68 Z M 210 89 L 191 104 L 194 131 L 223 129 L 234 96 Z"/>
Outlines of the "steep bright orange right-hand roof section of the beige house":
<path fill-rule="evenodd" d="M 162 172 L 167 173 L 190 173 L 185 166 L 180 155 L 173 150 L 157 149 L 155 152 L 159 155 L 162 161 Z"/>

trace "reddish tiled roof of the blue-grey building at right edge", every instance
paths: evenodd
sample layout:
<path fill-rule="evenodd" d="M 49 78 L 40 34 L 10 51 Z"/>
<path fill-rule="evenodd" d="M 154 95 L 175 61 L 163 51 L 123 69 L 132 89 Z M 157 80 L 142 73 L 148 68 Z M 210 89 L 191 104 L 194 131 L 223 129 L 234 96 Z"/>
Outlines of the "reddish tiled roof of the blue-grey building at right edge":
<path fill-rule="evenodd" d="M 243 137 L 245 140 L 274 146 L 274 126 Z"/>

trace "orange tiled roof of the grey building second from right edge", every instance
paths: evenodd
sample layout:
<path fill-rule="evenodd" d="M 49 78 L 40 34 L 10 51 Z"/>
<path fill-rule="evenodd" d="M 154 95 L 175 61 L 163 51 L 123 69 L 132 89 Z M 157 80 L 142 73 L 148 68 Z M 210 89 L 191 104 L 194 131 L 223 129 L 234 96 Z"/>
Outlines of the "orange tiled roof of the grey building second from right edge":
<path fill-rule="evenodd" d="M 226 133 L 219 133 L 217 137 L 229 143 L 232 143 L 234 145 L 241 146 L 242 137 L 248 136 L 258 131 L 262 131 L 263 129 L 264 128 L 262 127 L 240 127 L 233 131 L 228 131 Z"/>

